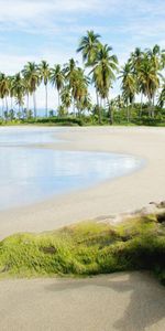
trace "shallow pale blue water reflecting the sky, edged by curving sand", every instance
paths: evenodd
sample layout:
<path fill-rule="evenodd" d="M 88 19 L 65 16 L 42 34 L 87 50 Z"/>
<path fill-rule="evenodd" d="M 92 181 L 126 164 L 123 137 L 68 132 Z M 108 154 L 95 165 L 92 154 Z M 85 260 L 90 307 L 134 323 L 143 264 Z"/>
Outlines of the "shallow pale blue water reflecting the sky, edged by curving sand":
<path fill-rule="evenodd" d="M 32 146 L 54 141 L 59 130 L 64 129 L 0 129 L 0 210 L 88 188 L 142 167 L 132 156 Z"/>

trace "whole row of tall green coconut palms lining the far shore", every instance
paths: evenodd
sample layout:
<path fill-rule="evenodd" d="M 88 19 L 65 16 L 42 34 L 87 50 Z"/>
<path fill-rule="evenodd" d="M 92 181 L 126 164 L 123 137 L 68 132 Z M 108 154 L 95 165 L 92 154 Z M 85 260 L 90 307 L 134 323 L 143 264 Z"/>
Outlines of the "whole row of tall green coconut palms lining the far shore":
<path fill-rule="evenodd" d="M 56 116 L 58 125 L 63 118 L 75 117 L 81 125 L 133 124 L 165 125 L 165 51 L 136 47 L 128 62 L 120 66 L 112 47 L 102 44 L 101 36 L 94 31 L 79 41 L 77 49 L 82 55 L 82 67 L 74 60 L 65 65 L 50 67 L 46 61 L 29 62 L 14 76 L 0 73 L 1 124 L 36 122 L 41 117 L 36 103 L 36 90 L 45 87 L 45 118 Z M 119 79 L 121 94 L 111 98 L 114 81 Z M 48 88 L 58 93 L 58 107 L 48 109 Z M 96 104 L 89 88 L 96 92 Z M 139 103 L 136 102 L 139 97 Z M 33 99 L 33 110 L 30 109 Z M 50 115 L 48 115 L 50 114 Z M 40 118 L 38 122 L 44 122 Z M 68 120 L 67 122 L 70 122 Z M 73 120 L 74 124 L 74 120 Z"/>

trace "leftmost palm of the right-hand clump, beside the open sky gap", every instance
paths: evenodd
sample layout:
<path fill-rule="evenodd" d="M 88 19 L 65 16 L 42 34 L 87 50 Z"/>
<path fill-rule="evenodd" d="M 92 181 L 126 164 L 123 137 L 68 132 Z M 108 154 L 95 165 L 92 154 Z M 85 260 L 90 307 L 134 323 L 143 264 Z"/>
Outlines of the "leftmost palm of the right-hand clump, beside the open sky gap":
<path fill-rule="evenodd" d="M 130 121 L 130 108 L 129 103 L 133 105 L 133 100 L 136 93 L 136 76 L 134 72 L 132 72 L 131 63 L 128 62 L 120 72 L 119 78 L 122 78 L 121 88 L 122 95 L 127 103 L 127 110 L 128 110 L 128 121 Z"/>

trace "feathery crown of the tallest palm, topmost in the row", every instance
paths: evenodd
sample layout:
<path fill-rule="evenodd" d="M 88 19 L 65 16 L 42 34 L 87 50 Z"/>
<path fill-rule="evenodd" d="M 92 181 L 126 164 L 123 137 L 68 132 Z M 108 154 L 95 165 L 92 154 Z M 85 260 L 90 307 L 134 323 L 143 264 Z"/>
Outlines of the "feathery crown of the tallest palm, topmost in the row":
<path fill-rule="evenodd" d="M 77 52 L 82 53 L 82 61 L 86 62 L 86 65 L 88 66 L 94 64 L 98 47 L 100 45 L 99 39 L 100 34 L 95 33 L 92 30 L 90 30 L 87 31 L 87 35 L 84 35 L 79 41 Z"/>

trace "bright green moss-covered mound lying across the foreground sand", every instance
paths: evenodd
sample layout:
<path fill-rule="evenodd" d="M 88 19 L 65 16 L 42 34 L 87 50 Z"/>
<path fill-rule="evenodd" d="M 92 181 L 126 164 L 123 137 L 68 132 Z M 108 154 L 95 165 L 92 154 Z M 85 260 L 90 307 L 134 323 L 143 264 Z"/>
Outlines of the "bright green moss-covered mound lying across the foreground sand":
<path fill-rule="evenodd" d="M 119 225 L 84 222 L 43 234 L 16 234 L 0 243 L 1 277 L 97 275 L 152 270 L 165 285 L 165 213 Z"/>

